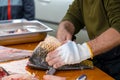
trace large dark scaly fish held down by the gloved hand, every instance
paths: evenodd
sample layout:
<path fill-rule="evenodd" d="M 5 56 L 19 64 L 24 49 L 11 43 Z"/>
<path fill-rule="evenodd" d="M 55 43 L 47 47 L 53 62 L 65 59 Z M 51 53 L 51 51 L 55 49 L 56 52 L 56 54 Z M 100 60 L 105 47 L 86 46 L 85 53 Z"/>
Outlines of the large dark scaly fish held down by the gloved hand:
<path fill-rule="evenodd" d="M 55 50 L 61 43 L 52 36 L 47 36 L 46 39 L 38 44 L 34 49 L 32 56 L 29 58 L 28 66 L 37 69 L 50 69 L 51 66 L 45 61 L 48 52 Z M 90 60 L 85 60 L 78 64 L 64 65 L 58 70 L 74 70 L 74 69 L 93 69 L 93 63 Z"/>

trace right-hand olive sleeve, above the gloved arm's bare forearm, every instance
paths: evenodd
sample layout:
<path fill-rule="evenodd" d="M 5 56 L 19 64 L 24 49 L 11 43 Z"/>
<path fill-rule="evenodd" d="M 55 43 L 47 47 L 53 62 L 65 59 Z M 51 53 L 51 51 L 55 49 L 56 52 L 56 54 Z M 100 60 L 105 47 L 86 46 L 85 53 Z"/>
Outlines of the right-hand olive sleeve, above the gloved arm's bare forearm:
<path fill-rule="evenodd" d="M 120 32 L 120 0 L 107 0 L 105 5 L 110 27 Z"/>

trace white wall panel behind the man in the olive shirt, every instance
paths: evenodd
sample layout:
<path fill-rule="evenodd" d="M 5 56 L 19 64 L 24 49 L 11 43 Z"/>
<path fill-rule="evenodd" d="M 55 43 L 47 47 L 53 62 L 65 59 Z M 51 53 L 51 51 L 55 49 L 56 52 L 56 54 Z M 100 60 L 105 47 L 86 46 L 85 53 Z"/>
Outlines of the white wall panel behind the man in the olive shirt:
<path fill-rule="evenodd" d="M 35 0 L 36 18 L 60 22 L 73 0 Z"/>

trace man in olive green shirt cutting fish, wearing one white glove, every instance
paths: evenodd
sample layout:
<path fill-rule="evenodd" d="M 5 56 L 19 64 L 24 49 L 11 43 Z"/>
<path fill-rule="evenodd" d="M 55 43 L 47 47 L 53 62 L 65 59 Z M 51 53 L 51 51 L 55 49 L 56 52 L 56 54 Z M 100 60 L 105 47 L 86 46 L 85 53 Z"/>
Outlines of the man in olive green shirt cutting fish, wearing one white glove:
<path fill-rule="evenodd" d="M 90 41 L 70 41 L 84 27 Z M 64 44 L 47 55 L 49 65 L 58 68 L 93 58 L 95 66 L 120 80 L 119 0 L 74 0 L 59 24 L 57 38 Z"/>

